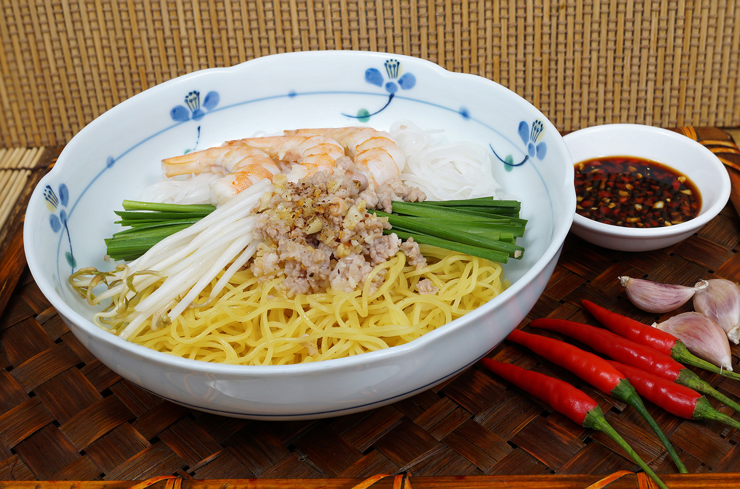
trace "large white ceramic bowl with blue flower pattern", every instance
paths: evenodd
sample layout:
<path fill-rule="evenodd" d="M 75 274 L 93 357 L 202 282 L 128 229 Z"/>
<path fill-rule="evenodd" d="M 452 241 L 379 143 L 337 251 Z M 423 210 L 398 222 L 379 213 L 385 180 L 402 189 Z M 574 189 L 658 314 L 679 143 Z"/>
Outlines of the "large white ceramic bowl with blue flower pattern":
<path fill-rule="evenodd" d="M 394 61 L 386 68 L 388 60 Z M 529 223 L 520 243 L 526 251 L 505 267 L 511 288 L 477 311 L 385 351 L 303 365 L 236 366 L 185 360 L 122 340 L 93 326 L 93 308 L 70 289 L 73 270 L 112 268 L 103 260 L 104 237 L 117 227 L 112 211 L 161 178 L 161 158 L 257 131 L 357 124 L 388 129 L 402 118 L 443 128 L 453 141 L 490 147 L 500 157 L 497 179 L 523 202 Z M 105 112 L 75 135 L 33 192 L 24 239 L 41 291 L 81 343 L 122 377 L 215 414 L 310 419 L 409 397 L 479 360 L 534 306 L 574 211 L 568 149 L 524 99 L 485 78 L 418 58 L 324 51 L 194 72 Z"/>

